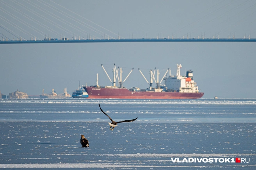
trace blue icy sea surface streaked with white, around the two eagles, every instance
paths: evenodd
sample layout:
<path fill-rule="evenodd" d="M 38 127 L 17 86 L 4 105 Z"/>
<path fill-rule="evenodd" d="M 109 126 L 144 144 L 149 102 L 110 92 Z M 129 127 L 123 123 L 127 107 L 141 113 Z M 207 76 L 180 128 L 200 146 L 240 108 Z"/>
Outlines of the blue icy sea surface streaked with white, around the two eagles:
<path fill-rule="evenodd" d="M 256 169 L 256 99 L 0 99 L 0 168 Z"/>

